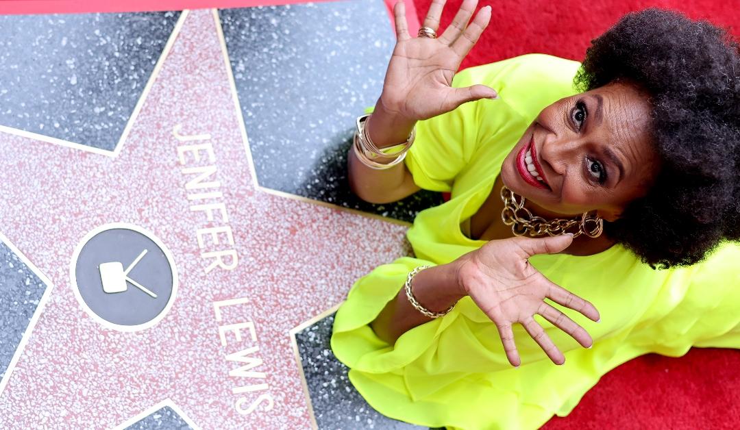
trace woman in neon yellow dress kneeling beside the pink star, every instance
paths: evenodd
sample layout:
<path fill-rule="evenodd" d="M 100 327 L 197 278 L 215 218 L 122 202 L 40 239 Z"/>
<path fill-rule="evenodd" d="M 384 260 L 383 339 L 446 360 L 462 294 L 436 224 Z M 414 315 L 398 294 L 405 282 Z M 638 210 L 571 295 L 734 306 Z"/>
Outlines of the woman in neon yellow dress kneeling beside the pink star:
<path fill-rule="evenodd" d="M 350 153 L 368 201 L 451 192 L 409 229 L 416 257 L 358 280 L 337 312 L 332 349 L 363 397 L 424 426 L 529 429 L 633 357 L 739 348 L 736 42 L 645 10 L 582 65 L 532 55 L 455 75 L 491 9 L 470 21 L 465 0 L 437 37 L 443 3 L 417 38 L 396 4 L 383 93 Z"/>

